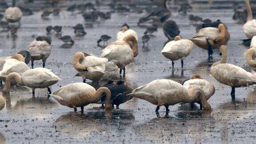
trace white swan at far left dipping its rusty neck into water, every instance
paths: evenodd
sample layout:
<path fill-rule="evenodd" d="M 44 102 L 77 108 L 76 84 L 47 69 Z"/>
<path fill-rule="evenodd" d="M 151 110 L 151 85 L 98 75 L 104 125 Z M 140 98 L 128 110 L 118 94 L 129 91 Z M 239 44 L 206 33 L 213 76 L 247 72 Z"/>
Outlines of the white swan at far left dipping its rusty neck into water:
<path fill-rule="evenodd" d="M 21 86 L 25 85 L 32 88 L 33 95 L 35 95 L 36 88 L 47 88 L 48 92 L 51 94 L 49 86 L 60 81 L 60 78 L 51 71 L 52 70 L 47 68 L 34 68 L 23 72 L 21 76 L 17 72 L 12 72 L 6 77 L 3 93 L 10 92 L 10 81 L 15 80 L 16 83 Z"/>

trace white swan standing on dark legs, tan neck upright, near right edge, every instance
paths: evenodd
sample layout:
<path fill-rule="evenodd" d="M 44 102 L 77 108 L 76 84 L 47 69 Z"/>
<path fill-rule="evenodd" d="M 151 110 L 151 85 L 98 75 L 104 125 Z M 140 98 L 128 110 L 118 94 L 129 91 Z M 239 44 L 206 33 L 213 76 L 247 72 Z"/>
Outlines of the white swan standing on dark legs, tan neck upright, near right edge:
<path fill-rule="evenodd" d="M 256 84 L 256 76 L 251 72 L 247 72 L 243 68 L 233 64 L 228 64 L 227 51 L 227 46 L 222 45 L 220 47 L 220 55 L 222 55 L 222 58 L 219 62 L 212 64 L 211 74 L 221 84 L 231 86 L 232 101 L 235 101 L 235 88 Z"/>

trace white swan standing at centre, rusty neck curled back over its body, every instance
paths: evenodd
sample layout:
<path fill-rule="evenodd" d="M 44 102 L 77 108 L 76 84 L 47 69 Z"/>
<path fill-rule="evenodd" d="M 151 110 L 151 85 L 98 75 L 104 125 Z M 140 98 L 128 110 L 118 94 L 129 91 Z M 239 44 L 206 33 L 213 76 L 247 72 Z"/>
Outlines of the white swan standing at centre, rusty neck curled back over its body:
<path fill-rule="evenodd" d="M 133 48 L 131 48 L 130 42 L 132 42 Z M 124 37 L 124 40 L 116 40 L 108 44 L 107 47 L 102 50 L 100 57 L 109 58 L 120 68 L 120 74 L 122 70 L 124 70 L 125 75 L 125 66 L 130 64 L 137 55 L 137 40 L 134 36 L 128 35 Z"/>

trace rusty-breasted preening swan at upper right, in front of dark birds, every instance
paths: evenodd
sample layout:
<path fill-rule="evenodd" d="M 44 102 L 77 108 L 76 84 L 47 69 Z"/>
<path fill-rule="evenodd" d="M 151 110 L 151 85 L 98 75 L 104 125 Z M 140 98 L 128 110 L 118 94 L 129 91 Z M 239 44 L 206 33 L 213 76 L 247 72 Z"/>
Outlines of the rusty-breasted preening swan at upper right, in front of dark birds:
<path fill-rule="evenodd" d="M 224 24 L 219 24 L 218 28 L 202 28 L 191 39 L 198 47 L 208 49 L 208 56 L 212 57 L 212 49 L 219 48 L 228 43 L 230 34 Z"/>

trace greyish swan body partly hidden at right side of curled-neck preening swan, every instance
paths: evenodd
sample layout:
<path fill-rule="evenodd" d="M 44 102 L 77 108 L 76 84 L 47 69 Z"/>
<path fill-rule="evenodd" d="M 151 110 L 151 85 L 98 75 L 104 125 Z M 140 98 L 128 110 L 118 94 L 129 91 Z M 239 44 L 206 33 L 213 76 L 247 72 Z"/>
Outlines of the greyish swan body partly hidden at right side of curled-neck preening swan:
<path fill-rule="evenodd" d="M 106 74 L 102 78 L 102 80 L 115 79 L 118 76 L 119 68 L 118 66 L 112 62 L 108 61 L 105 63 L 105 71 Z"/>

